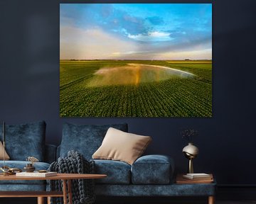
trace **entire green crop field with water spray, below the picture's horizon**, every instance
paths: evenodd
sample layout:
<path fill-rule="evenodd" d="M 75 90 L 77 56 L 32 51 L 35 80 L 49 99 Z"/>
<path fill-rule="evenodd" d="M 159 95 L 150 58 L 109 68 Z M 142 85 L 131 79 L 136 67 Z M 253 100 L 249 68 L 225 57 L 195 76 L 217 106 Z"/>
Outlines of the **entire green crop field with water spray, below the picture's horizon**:
<path fill-rule="evenodd" d="M 212 61 L 60 60 L 60 116 L 211 117 Z"/>

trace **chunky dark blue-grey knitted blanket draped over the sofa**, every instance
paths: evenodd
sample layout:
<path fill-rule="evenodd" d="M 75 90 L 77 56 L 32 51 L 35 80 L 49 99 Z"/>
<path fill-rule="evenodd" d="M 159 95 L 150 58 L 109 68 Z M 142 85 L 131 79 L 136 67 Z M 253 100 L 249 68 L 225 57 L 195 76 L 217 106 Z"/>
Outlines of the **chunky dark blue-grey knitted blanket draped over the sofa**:
<path fill-rule="evenodd" d="M 68 157 L 60 157 L 58 162 L 50 164 L 49 170 L 69 174 L 95 174 L 95 162 L 88 162 L 82 154 L 72 150 L 68 152 Z M 48 183 L 50 184 L 50 191 L 62 191 L 62 181 L 50 180 Z M 72 198 L 73 204 L 95 203 L 94 179 L 72 180 Z M 51 198 L 50 203 L 62 204 L 63 198 Z"/>

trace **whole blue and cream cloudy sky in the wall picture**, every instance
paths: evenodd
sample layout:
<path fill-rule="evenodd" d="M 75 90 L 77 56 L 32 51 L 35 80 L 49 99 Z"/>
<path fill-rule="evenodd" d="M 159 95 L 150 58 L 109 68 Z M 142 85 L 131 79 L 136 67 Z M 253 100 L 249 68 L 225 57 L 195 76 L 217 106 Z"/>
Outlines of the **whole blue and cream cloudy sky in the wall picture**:
<path fill-rule="evenodd" d="M 60 4 L 60 60 L 212 59 L 211 4 Z"/>

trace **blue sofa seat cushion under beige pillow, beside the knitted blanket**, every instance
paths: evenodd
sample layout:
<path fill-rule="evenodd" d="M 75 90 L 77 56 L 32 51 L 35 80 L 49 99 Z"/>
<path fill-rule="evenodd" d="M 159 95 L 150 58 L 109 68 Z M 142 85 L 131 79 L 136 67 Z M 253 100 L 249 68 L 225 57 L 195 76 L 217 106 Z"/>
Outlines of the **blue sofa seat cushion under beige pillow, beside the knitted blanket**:
<path fill-rule="evenodd" d="M 131 166 L 125 162 L 113 160 L 95 161 L 95 173 L 107 174 L 104 179 L 95 179 L 96 183 L 129 184 L 131 183 Z"/>

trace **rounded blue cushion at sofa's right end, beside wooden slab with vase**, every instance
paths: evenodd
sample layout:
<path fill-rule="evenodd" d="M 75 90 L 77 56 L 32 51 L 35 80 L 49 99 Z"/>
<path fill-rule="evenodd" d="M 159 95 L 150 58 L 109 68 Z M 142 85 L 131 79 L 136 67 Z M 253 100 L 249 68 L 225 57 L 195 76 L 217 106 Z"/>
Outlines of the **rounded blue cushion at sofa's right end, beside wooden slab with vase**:
<path fill-rule="evenodd" d="M 173 159 L 165 155 L 146 155 L 132 164 L 132 183 L 168 184 L 173 173 Z"/>

